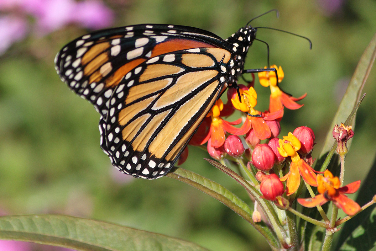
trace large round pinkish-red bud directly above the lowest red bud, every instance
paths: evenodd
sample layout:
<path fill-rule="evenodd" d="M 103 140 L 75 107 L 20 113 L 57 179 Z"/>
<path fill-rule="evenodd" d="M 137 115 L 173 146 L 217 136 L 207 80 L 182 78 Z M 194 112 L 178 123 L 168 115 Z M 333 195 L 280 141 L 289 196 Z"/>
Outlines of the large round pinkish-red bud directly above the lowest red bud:
<path fill-rule="evenodd" d="M 276 155 L 268 144 L 259 144 L 253 149 L 253 165 L 261 171 L 270 170 L 276 163 L 276 159 Z"/>

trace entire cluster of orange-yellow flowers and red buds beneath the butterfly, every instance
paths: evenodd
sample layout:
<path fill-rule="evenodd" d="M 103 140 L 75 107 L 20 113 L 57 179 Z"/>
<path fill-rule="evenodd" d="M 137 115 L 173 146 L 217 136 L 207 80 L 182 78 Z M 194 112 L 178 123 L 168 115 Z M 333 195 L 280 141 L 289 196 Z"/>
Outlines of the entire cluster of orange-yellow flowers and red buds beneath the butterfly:
<path fill-rule="evenodd" d="M 303 105 L 296 101 L 302 100 L 306 94 L 295 98 L 282 91 L 278 84 L 284 78 L 284 72 L 276 65 L 271 68 L 276 68 L 278 79 L 273 71 L 259 73 L 260 84 L 270 87 L 271 91 L 267 111 L 256 110 L 257 93 L 253 82 L 248 86 L 239 85 L 239 91 L 228 90 L 226 104 L 217 100 L 190 144 L 207 143 L 208 153 L 215 160 L 224 165 L 230 160 L 246 166 L 244 172 L 247 172 L 250 184 L 261 194 L 259 198 L 274 202 L 278 208 L 292 210 L 290 205 L 296 199 L 304 207 L 320 207 L 332 201 L 346 214 L 355 215 L 361 208 L 344 193 L 356 192 L 360 181 L 342 186 L 342 180 L 329 170 L 318 172 L 311 167 L 314 163 L 311 153 L 315 146 L 313 130 L 299 126 L 279 137 L 284 108 L 301 108 Z M 241 118 L 227 121 L 225 118 L 235 110 L 241 112 Z M 353 137 L 351 127 L 337 125 L 333 136 L 338 142 L 338 154 L 346 154 L 346 142 Z M 303 191 L 302 181 L 312 191 L 312 198 L 297 198 Z M 311 187 L 317 187 L 317 195 L 313 196 Z M 253 213 L 255 222 L 261 221 L 258 216 L 257 212 Z"/>

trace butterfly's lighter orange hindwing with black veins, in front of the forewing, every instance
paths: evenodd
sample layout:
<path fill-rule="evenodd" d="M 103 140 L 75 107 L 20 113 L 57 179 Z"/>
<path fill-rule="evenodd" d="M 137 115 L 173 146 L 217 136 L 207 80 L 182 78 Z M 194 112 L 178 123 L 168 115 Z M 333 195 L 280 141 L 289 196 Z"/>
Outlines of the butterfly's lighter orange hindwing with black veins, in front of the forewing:
<path fill-rule="evenodd" d="M 106 119 L 113 164 L 142 178 L 167 173 L 222 90 L 218 69 L 227 57 L 226 50 L 213 48 L 163 54 L 124 78 Z"/>

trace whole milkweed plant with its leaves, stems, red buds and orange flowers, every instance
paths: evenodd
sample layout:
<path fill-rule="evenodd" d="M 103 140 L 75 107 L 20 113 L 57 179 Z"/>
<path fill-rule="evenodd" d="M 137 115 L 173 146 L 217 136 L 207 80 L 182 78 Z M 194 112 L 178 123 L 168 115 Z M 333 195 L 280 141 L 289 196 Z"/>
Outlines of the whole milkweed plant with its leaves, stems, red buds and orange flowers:
<path fill-rule="evenodd" d="M 206 161 L 236 180 L 252 203 L 182 168 L 175 167 L 167 176 L 190 184 L 231 208 L 264 236 L 272 250 L 330 250 L 337 231 L 344 225 L 346 228 L 345 223 L 376 202 L 376 195 L 365 204 L 347 197 L 346 194 L 358 191 L 361 181 L 343 183 L 345 170 L 354 168 L 346 166 L 345 157 L 349 140 L 356 137 L 352 126 L 364 98 L 362 88 L 375 52 L 376 36 L 359 61 L 347 88 L 347 94 L 351 95 L 345 94 L 317 160 L 312 158 L 312 152 L 319 150 L 315 148 L 315 133 L 309 125 L 296 125 L 292 132 L 280 135 L 284 110 L 301 108 L 306 96 L 293 97 L 281 90 L 278 85 L 284 78 L 281 67 L 271 66 L 277 69 L 278 79 L 273 71 L 260 72 L 258 78 L 253 76 L 252 82 L 240 85 L 239 93 L 229 89 L 226 103 L 221 99 L 215 102 L 190 145 L 204 148 L 211 156 Z M 256 90 L 262 87 L 271 91 L 267 111 L 256 110 Z M 229 121 L 227 118 L 233 113 L 241 114 L 240 119 Z M 188 148 L 178 164 L 187 156 Z M 372 185 L 368 182 L 364 186 Z M 338 218 L 338 210 L 347 216 Z M 369 215 L 359 219 L 369 221 Z M 321 239 L 317 237 L 320 233 Z M 57 215 L 3 216 L 0 237 L 76 250 L 206 250 L 173 237 Z M 341 250 L 370 250 L 346 247 L 346 243 L 337 246 Z"/>

